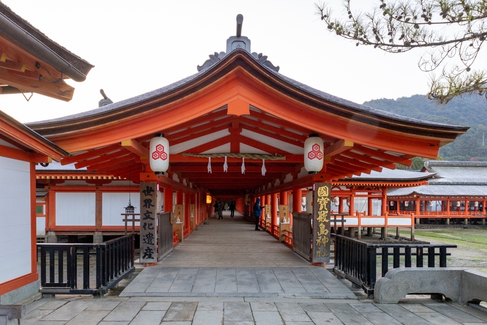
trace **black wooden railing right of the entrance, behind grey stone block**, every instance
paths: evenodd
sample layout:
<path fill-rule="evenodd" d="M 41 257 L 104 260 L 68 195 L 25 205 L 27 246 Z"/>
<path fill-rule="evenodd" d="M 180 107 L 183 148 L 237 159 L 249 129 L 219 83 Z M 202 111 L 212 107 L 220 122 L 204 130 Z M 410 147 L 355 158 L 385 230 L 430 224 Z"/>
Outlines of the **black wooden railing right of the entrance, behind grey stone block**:
<path fill-rule="evenodd" d="M 439 256 L 439 267 L 447 267 L 448 248 L 456 245 L 431 244 L 369 244 L 350 237 L 332 234 L 335 240 L 335 267 L 333 271 L 361 287 L 370 297 L 374 295 L 375 281 L 389 270 L 389 256 L 393 268 L 434 268 Z M 438 252 L 436 252 L 438 250 Z M 403 258 L 403 259 L 402 259 Z M 377 277 L 377 260 L 380 259 L 381 276 Z M 414 263 L 413 263 L 414 262 Z"/>

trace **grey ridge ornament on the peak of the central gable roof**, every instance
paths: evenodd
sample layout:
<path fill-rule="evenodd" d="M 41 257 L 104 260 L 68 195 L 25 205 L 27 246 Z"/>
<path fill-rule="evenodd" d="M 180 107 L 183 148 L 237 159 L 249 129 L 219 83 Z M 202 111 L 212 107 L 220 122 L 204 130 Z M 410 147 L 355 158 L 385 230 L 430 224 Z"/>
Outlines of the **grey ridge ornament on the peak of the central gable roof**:
<path fill-rule="evenodd" d="M 242 36 L 242 25 L 244 23 L 244 16 L 241 14 L 237 15 L 237 35 L 230 36 L 226 40 L 226 52 L 215 52 L 214 54 L 209 55 L 209 59 L 207 59 L 202 65 L 198 65 L 196 68 L 199 71 L 206 70 L 207 68 L 213 66 L 218 61 L 226 57 L 230 52 L 233 50 L 245 50 L 252 57 L 254 57 L 257 61 L 259 61 L 262 65 L 266 66 L 267 68 L 279 72 L 279 66 L 274 66 L 271 61 L 267 60 L 267 56 L 262 55 L 262 53 L 257 54 L 257 52 L 250 52 L 250 39 L 246 36 Z"/>

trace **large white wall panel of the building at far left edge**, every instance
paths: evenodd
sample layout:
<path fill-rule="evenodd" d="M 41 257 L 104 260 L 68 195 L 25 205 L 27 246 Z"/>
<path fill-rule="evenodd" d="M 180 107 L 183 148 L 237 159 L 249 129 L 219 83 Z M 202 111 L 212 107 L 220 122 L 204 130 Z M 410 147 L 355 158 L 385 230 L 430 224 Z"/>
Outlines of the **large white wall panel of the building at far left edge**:
<path fill-rule="evenodd" d="M 0 156 L 0 284 L 31 273 L 30 163 Z"/>

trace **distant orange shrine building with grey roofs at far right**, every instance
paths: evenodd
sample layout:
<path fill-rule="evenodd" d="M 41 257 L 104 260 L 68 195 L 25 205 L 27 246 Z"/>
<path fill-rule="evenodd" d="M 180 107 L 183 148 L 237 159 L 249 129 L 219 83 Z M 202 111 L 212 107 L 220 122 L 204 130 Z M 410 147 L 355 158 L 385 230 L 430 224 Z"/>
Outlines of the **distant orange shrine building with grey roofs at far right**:
<path fill-rule="evenodd" d="M 412 213 L 416 223 L 486 224 L 487 163 L 426 161 L 429 184 L 388 192 L 389 214 Z"/>

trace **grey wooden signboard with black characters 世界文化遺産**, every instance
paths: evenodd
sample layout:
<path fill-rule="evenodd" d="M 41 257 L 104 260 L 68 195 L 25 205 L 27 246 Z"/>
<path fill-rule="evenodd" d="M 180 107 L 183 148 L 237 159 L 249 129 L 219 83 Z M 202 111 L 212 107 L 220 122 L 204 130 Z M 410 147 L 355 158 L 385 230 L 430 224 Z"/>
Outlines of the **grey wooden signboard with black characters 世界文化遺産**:
<path fill-rule="evenodd" d="M 140 183 L 140 262 L 157 263 L 157 183 Z"/>

